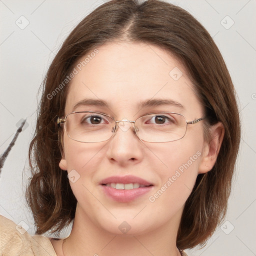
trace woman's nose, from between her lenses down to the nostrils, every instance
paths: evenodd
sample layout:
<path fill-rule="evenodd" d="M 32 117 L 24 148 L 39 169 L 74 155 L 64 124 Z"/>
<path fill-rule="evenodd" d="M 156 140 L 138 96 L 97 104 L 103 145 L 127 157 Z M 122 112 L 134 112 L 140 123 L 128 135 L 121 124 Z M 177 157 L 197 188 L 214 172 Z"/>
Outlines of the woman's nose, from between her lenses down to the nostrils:
<path fill-rule="evenodd" d="M 116 122 L 115 134 L 108 143 L 106 156 L 109 161 L 125 166 L 141 161 L 143 143 L 134 132 L 134 121 L 123 119 Z"/>

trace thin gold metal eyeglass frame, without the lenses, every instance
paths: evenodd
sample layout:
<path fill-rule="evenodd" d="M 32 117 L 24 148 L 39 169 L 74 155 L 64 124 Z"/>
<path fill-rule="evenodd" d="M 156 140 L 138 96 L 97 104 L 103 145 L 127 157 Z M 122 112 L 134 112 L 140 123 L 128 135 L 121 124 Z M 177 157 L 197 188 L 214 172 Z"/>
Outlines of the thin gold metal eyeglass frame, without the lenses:
<path fill-rule="evenodd" d="M 110 117 L 110 118 L 113 119 L 113 121 L 115 122 L 115 126 L 112 127 L 112 133 L 113 133 L 113 134 L 112 134 L 108 139 L 101 140 L 101 141 L 96 141 L 96 142 L 94 142 L 94 141 L 92 141 L 92 142 L 80 141 L 80 140 L 77 140 L 77 139 L 74 139 L 74 138 L 70 137 L 69 134 L 68 134 L 68 132 L 67 132 L 67 130 L 66 130 L 66 125 L 65 125 L 65 123 L 66 123 L 66 118 L 67 118 L 67 116 L 68 116 L 69 114 L 72 114 L 72 113 L 96 113 L 96 114 L 102 114 L 102 115 L 104 115 L 104 116 Z M 185 129 L 184 135 L 183 135 L 181 138 L 183 138 L 183 137 L 185 136 L 185 134 L 186 134 L 187 124 L 195 124 L 195 123 L 197 123 L 197 122 L 199 122 L 199 121 L 205 119 L 205 117 L 200 117 L 200 118 L 194 119 L 194 120 L 192 120 L 192 121 L 187 121 L 186 118 L 184 117 L 184 115 L 182 115 L 182 114 L 175 113 L 175 112 L 166 112 L 166 111 L 165 111 L 165 112 L 152 112 L 152 113 L 143 114 L 143 115 L 139 116 L 138 118 L 136 118 L 134 121 L 130 121 L 130 120 L 117 120 L 117 121 L 115 121 L 114 117 L 112 117 L 112 116 L 110 116 L 110 115 L 107 115 L 107 114 L 104 114 L 104 113 L 101 113 L 101 112 L 94 112 L 94 111 L 73 111 L 73 112 L 67 114 L 64 118 L 58 117 L 58 118 L 57 118 L 57 124 L 58 124 L 58 126 L 60 126 L 61 124 L 64 123 L 64 128 L 65 128 L 65 131 L 66 131 L 66 134 L 68 135 L 68 137 L 71 138 L 71 139 L 73 139 L 73 140 L 75 140 L 75 141 L 81 142 L 81 143 L 97 143 L 97 142 L 102 142 L 102 141 L 107 141 L 107 140 L 109 140 L 109 139 L 110 139 L 111 137 L 113 137 L 113 135 L 116 133 L 116 131 L 117 131 L 117 129 L 118 129 L 117 123 L 119 123 L 119 122 L 131 122 L 131 123 L 133 123 L 133 131 L 134 131 L 134 133 L 135 133 L 136 136 L 139 138 L 139 140 L 142 140 L 142 141 L 145 141 L 145 142 L 150 142 L 150 143 L 165 143 L 165 142 L 172 142 L 172 141 L 176 141 L 176 140 L 181 139 L 181 138 L 178 138 L 178 139 L 174 139 L 174 140 L 170 140 L 170 141 L 161 141 L 161 142 L 155 142 L 155 141 L 153 141 L 153 142 L 151 142 L 151 141 L 143 140 L 143 139 L 141 139 L 141 138 L 138 136 L 138 134 L 136 133 L 135 126 L 134 126 L 135 121 L 136 121 L 137 119 L 139 119 L 140 117 L 142 117 L 142 116 L 146 116 L 146 115 L 149 115 L 149 114 L 160 114 L 160 113 L 178 114 L 178 115 L 181 115 L 181 116 L 184 118 L 184 120 L 186 121 L 186 129 Z"/>

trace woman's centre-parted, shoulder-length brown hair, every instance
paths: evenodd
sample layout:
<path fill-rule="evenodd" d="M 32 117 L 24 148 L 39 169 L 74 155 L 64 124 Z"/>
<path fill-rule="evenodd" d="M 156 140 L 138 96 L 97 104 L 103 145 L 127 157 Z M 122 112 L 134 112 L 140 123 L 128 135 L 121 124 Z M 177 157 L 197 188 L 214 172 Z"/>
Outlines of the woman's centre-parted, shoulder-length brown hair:
<path fill-rule="evenodd" d="M 177 234 L 179 249 L 203 244 L 226 212 L 240 140 L 235 92 L 224 60 L 205 28 L 184 9 L 158 0 L 111 0 L 100 5 L 72 30 L 50 64 L 29 147 L 32 177 L 26 197 L 37 233 L 59 233 L 74 218 L 76 207 L 67 173 L 58 166 L 62 131 L 56 119 L 64 115 L 68 85 L 54 96 L 52 91 L 78 58 L 104 42 L 118 39 L 155 44 L 174 54 L 193 81 L 207 116 L 206 126 L 218 121 L 224 126 L 216 163 L 211 171 L 197 176 Z"/>

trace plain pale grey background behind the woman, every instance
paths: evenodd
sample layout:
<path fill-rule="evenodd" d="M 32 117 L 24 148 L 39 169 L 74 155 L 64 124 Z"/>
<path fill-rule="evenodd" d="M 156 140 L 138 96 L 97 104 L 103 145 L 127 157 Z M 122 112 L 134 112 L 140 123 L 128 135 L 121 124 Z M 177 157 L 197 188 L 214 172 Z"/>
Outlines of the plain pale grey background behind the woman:
<path fill-rule="evenodd" d="M 224 220 L 228 222 L 216 229 L 205 247 L 190 250 L 188 254 L 256 255 L 256 1 L 169 2 L 188 10 L 213 36 L 237 91 L 242 122 L 234 185 Z M 27 118 L 25 129 L 0 175 L 0 214 L 27 225 L 31 234 L 33 219 L 25 204 L 24 191 L 29 176 L 27 150 L 35 127 L 38 87 L 60 43 L 101 3 L 103 0 L 0 0 L 0 154 L 10 143 L 21 119 Z M 25 18 L 20 18 L 21 15 Z M 24 26 L 26 19 L 29 24 L 21 29 L 19 26 Z"/>

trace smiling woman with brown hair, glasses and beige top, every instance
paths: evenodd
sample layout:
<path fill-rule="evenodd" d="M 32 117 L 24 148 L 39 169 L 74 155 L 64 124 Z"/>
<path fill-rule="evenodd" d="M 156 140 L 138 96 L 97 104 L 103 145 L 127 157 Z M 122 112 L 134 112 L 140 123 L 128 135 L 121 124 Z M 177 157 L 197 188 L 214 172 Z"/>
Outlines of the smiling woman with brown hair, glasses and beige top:
<path fill-rule="evenodd" d="M 239 138 L 231 78 L 202 25 L 157 0 L 106 2 L 48 69 L 26 193 L 37 235 L 1 217 L 1 252 L 186 255 L 225 214 Z M 65 239 L 41 235 L 71 221 Z"/>

